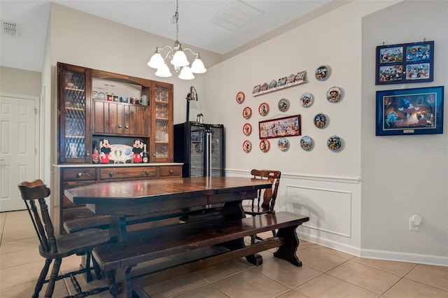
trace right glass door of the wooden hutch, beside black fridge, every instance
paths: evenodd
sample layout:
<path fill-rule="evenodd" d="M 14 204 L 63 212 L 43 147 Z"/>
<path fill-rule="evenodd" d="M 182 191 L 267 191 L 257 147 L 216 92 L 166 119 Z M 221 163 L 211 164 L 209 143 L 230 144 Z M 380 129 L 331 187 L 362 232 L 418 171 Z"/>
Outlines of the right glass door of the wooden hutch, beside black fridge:
<path fill-rule="evenodd" d="M 172 162 L 173 160 L 173 88 L 170 84 L 155 82 L 153 87 L 154 121 L 152 162 Z"/>

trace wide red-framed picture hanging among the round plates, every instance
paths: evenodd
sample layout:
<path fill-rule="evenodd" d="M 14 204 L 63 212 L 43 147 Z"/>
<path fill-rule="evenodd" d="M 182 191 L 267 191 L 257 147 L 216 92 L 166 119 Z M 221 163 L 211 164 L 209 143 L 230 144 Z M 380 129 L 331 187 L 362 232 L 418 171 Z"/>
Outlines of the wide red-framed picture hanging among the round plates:
<path fill-rule="evenodd" d="M 258 122 L 258 132 L 260 140 L 284 136 L 300 136 L 302 134 L 300 115 L 260 121 Z"/>

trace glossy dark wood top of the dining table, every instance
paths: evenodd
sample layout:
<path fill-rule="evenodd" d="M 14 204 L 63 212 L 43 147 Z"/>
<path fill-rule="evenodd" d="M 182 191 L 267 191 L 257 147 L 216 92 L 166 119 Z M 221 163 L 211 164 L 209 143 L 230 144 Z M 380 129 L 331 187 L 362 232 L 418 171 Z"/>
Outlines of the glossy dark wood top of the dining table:
<path fill-rule="evenodd" d="M 223 196 L 270 187 L 267 180 L 245 177 L 193 177 L 96 183 L 65 190 L 75 204 L 146 204 L 148 201 Z"/>

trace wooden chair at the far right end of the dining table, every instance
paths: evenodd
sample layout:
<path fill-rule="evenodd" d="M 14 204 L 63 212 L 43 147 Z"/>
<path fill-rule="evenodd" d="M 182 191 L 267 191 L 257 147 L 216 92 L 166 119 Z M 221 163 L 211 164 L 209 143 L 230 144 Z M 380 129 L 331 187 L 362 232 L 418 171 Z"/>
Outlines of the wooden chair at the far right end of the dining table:
<path fill-rule="evenodd" d="M 253 169 L 251 175 L 255 179 L 269 180 L 272 186 L 263 190 L 258 190 L 258 197 L 250 199 L 251 204 L 243 204 L 244 213 L 255 216 L 274 212 L 277 192 L 279 192 L 281 172 Z M 256 205 L 255 200 L 257 201 Z M 272 231 L 272 234 L 276 236 L 276 231 Z M 251 237 L 251 243 L 255 243 L 255 239 L 261 240 L 257 235 L 253 235 Z"/>

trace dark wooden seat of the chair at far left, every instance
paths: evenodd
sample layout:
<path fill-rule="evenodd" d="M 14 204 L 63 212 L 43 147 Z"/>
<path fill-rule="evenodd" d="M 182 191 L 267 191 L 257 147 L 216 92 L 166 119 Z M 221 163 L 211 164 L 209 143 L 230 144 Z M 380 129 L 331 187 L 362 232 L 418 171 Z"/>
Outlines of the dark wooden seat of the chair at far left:
<path fill-rule="evenodd" d="M 104 229 L 85 229 L 69 235 L 55 236 L 57 253 L 43 250 L 39 246 L 39 253 L 46 259 L 59 259 L 75 253 L 84 253 L 94 246 L 109 241 L 109 231 Z"/>

